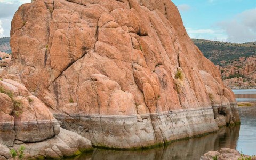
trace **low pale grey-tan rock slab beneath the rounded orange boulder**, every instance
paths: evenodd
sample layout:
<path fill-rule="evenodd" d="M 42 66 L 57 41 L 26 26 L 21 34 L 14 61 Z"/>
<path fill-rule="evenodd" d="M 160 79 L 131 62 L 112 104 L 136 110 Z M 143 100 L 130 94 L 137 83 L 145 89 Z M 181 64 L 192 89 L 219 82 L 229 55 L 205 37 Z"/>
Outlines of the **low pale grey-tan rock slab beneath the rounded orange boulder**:
<path fill-rule="evenodd" d="M 91 141 L 77 133 L 65 129 L 60 129 L 60 134 L 42 142 L 22 143 L 20 141 L 15 141 L 11 148 L 19 150 L 21 146 L 25 147 L 25 159 L 42 159 L 43 157 L 62 159 L 63 157 L 78 155 L 81 154 L 82 151 L 89 151 L 92 149 Z M 10 159 L 10 149 L 5 145 L 0 144 L 0 156 L 3 156 L 5 159 Z"/>

